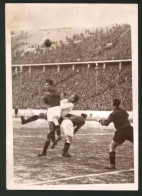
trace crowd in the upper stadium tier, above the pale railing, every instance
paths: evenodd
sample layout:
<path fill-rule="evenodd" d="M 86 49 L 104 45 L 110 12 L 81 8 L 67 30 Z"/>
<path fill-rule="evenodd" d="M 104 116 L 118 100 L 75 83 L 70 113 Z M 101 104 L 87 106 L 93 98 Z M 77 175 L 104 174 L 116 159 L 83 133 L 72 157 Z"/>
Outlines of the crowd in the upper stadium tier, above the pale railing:
<path fill-rule="evenodd" d="M 16 45 L 16 40 L 14 43 Z M 25 52 L 14 47 L 12 64 L 131 59 L 131 28 L 125 24 L 86 30 L 66 37 L 66 41 L 60 40 L 50 48 L 42 48 L 38 43 L 32 47 Z"/>

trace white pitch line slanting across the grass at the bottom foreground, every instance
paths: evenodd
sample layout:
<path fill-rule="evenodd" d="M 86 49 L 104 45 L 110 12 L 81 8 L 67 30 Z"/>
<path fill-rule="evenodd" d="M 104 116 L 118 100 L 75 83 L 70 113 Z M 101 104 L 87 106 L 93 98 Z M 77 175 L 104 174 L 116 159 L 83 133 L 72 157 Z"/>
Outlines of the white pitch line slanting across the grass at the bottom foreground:
<path fill-rule="evenodd" d="M 110 174 L 119 174 L 122 172 L 129 172 L 129 171 L 134 171 L 134 169 L 129 169 L 129 170 L 120 170 L 120 171 L 113 171 L 113 172 L 105 172 L 105 173 L 98 173 L 98 174 L 88 174 L 88 175 L 82 175 L 82 176 L 73 176 L 73 177 L 68 177 L 68 178 L 59 178 L 56 180 L 47 180 L 47 181 L 42 181 L 42 182 L 35 182 L 35 183 L 28 183 L 27 186 L 30 185 L 40 185 L 40 184 L 46 184 L 46 183 L 51 183 L 51 182 L 58 182 L 58 181 L 64 181 L 64 180 L 74 180 L 77 178 L 84 178 L 84 177 L 91 177 L 91 176 L 101 176 L 101 175 L 110 175 Z"/>

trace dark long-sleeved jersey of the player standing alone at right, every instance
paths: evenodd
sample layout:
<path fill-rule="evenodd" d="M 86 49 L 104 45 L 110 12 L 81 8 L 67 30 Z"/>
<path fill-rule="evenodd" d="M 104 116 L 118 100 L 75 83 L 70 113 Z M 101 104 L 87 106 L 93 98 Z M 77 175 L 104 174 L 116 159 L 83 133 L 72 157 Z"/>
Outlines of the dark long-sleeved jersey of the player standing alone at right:
<path fill-rule="evenodd" d="M 113 112 L 109 115 L 107 120 L 101 122 L 102 125 L 109 125 L 111 122 L 114 123 L 114 126 L 117 130 L 130 126 L 128 120 L 129 114 L 120 107 L 114 108 Z"/>

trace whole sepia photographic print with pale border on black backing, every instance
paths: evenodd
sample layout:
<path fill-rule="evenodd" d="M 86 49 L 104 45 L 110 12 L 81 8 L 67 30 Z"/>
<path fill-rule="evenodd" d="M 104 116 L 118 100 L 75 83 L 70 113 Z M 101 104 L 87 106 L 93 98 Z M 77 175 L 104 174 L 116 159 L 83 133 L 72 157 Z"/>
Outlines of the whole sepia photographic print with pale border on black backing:
<path fill-rule="evenodd" d="M 138 190 L 138 5 L 6 3 L 7 190 Z"/>

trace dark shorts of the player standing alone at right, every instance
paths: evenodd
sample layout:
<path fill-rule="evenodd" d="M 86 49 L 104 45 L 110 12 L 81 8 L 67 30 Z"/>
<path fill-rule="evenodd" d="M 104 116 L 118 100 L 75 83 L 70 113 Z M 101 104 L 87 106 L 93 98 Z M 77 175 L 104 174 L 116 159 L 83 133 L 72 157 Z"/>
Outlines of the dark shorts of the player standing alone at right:
<path fill-rule="evenodd" d="M 117 130 L 113 137 L 113 141 L 119 144 L 122 144 L 126 140 L 133 142 L 133 127 L 132 126 L 124 127 L 122 129 Z"/>

